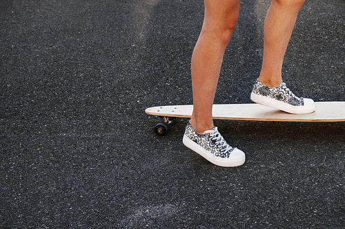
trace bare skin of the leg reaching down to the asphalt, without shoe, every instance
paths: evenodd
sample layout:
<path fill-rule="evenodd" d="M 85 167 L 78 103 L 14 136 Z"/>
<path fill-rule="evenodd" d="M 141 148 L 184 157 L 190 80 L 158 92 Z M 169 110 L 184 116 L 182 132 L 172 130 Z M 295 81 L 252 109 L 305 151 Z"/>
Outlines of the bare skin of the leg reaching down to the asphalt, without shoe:
<path fill-rule="evenodd" d="M 205 17 L 192 56 L 193 114 L 197 133 L 211 129 L 212 107 L 221 63 L 239 14 L 239 0 L 204 0 Z"/>

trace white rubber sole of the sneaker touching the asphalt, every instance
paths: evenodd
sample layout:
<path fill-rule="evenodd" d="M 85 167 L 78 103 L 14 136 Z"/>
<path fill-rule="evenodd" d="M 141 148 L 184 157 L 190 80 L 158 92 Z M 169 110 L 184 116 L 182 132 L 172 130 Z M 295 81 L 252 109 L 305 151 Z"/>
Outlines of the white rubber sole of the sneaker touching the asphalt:
<path fill-rule="evenodd" d="M 199 144 L 190 140 L 186 135 L 184 135 L 182 141 L 184 142 L 184 145 L 187 146 L 189 149 L 195 151 L 196 153 L 201 155 L 201 157 L 204 157 L 206 160 L 217 166 L 235 167 L 244 164 L 244 162 L 246 161 L 246 155 L 244 154 L 244 152 L 240 151 L 237 148 L 235 148 L 233 152 L 230 153 L 230 157 L 221 158 L 216 157 L 215 155 L 206 151 L 204 148 L 199 146 Z"/>

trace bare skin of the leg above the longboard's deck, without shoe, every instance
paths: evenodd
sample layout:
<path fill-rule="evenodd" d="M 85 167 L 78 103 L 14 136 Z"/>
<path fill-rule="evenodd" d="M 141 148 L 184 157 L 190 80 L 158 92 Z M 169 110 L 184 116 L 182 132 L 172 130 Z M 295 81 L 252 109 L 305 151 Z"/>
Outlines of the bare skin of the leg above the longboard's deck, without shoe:
<path fill-rule="evenodd" d="M 282 83 L 283 58 L 304 0 L 273 0 L 264 24 L 264 60 L 259 81 L 268 87 Z"/>

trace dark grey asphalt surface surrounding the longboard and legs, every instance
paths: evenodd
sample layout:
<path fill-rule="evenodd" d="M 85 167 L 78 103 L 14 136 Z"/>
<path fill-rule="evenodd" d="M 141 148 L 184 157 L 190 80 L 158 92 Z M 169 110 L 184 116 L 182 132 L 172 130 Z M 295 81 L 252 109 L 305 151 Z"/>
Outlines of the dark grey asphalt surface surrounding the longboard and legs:
<path fill-rule="evenodd" d="M 250 102 L 269 1 L 244 0 L 215 103 Z M 345 123 L 216 120 L 210 164 L 147 107 L 192 104 L 200 0 L 1 0 L 0 228 L 345 228 Z M 345 100 L 345 1 L 306 0 L 283 77 Z"/>

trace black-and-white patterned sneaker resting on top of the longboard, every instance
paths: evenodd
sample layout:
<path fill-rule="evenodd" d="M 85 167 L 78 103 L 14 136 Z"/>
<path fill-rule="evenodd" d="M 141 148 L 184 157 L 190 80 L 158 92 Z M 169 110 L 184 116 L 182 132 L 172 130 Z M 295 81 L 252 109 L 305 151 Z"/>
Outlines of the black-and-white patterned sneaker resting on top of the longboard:
<path fill-rule="evenodd" d="M 261 105 L 288 113 L 312 113 L 315 111 L 313 100 L 298 98 L 286 87 L 285 83 L 281 83 L 277 87 L 267 87 L 257 80 L 250 99 Z"/>

